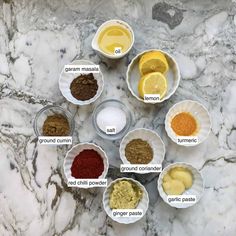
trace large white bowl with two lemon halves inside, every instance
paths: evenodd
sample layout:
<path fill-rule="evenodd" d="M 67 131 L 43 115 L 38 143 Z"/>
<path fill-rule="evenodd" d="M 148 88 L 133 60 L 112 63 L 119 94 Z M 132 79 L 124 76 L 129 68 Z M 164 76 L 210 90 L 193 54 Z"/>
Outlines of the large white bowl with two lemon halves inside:
<path fill-rule="evenodd" d="M 180 82 L 180 70 L 167 52 L 151 49 L 130 62 L 126 82 L 132 95 L 145 103 L 160 103 L 170 98 Z"/>

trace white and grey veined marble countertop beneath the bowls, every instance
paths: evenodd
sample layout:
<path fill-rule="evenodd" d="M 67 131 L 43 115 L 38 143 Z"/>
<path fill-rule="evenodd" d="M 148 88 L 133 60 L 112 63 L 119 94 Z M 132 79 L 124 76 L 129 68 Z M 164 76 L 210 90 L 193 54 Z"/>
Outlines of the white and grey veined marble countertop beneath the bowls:
<path fill-rule="evenodd" d="M 236 234 L 236 1 L 232 0 L 0 0 L 0 235 L 234 236 Z M 120 61 L 91 48 L 96 29 L 108 19 L 127 21 L 135 33 Z M 139 52 L 160 48 L 181 70 L 174 96 L 160 105 L 137 101 L 125 73 Z M 76 107 L 61 95 L 58 79 L 74 59 L 99 64 L 105 89 L 95 104 Z M 96 104 L 116 98 L 133 111 L 133 127 L 151 128 L 166 145 L 164 166 L 184 161 L 205 181 L 201 201 L 174 209 L 160 198 L 155 175 L 130 175 L 145 185 L 150 206 L 137 223 L 121 225 L 106 216 L 102 189 L 68 188 L 62 175 L 64 147 L 40 146 L 33 131 L 38 110 L 58 104 L 75 114 L 74 143 L 101 145 L 110 161 L 109 180 L 119 172 L 119 141 L 99 138 L 91 123 Z M 164 130 L 168 109 L 193 99 L 212 119 L 208 139 L 193 148 L 177 146 Z"/>

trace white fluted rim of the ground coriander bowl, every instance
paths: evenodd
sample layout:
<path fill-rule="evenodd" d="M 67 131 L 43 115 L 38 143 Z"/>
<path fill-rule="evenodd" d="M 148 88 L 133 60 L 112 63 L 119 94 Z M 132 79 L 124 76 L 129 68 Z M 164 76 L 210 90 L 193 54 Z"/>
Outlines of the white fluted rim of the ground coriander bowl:
<path fill-rule="evenodd" d="M 122 138 L 122 140 L 121 140 L 121 142 L 120 142 L 120 147 L 119 147 L 120 159 L 122 160 L 123 164 L 130 164 L 130 165 L 132 165 L 132 164 L 127 160 L 126 156 L 121 155 L 121 149 L 122 149 L 122 147 L 123 147 L 123 141 L 124 141 L 124 139 L 125 139 L 126 137 L 128 137 L 131 133 L 136 132 L 136 131 L 142 131 L 142 130 L 144 130 L 145 132 L 154 134 L 154 135 L 160 140 L 160 142 L 161 142 L 161 144 L 162 144 L 162 147 L 163 147 L 163 153 L 162 153 L 162 156 L 161 156 L 161 163 L 160 163 L 160 165 L 162 165 L 162 163 L 163 163 L 163 161 L 164 161 L 164 159 L 165 159 L 165 154 L 166 154 L 165 143 L 163 142 L 163 140 L 161 139 L 160 135 L 159 135 L 157 132 L 155 132 L 154 130 L 151 130 L 151 129 L 147 129 L 147 128 L 136 128 L 136 129 L 130 130 L 130 131 Z M 127 163 L 126 163 L 126 161 L 127 161 Z M 148 165 L 148 164 L 145 164 L 145 165 Z M 137 172 L 134 171 L 133 173 L 137 173 Z M 138 173 L 139 173 L 139 172 L 138 172 Z M 139 174 L 146 174 L 146 173 L 149 173 L 149 172 L 142 172 L 142 173 L 139 173 Z"/>

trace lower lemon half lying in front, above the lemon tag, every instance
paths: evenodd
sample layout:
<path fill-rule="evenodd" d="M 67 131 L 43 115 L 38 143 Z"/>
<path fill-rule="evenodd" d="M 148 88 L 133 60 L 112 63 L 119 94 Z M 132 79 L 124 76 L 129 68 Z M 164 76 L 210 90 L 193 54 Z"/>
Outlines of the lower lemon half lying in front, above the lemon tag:
<path fill-rule="evenodd" d="M 167 92 L 167 80 L 160 72 L 144 75 L 139 81 L 138 92 L 142 98 L 144 94 L 160 94 L 162 99 Z"/>

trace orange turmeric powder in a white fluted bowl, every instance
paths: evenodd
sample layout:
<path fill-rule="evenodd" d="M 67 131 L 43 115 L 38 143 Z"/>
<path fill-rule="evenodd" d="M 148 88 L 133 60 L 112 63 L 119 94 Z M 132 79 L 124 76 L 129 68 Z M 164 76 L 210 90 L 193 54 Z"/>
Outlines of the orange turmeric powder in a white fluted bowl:
<path fill-rule="evenodd" d="M 179 136 L 191 136 L 197 131 L 197 121 L 190 113 L 181 112 L 172 119 L 171 128 Z"/>

